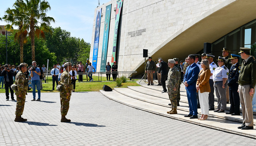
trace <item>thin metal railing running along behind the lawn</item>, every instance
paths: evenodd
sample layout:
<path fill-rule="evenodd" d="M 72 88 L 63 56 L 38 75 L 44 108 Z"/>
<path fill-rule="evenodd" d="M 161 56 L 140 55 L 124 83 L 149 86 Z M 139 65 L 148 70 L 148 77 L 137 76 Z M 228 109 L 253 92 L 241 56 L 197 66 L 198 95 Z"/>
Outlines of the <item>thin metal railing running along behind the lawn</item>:
<path fill-rule="evenodd" d="M 132 81 L 134 81 L 134 74 L 137 73 L 137 71 L 111 71 L 111 72 L 77 72 L 76 77 L 79 77 L 79 75 L 82 75 L 82 81 L 78 80 L 78 82 L 83 82 L 84 79 L 84 75 L 88 75 L 88 74 L 94 74 L 94 75 L 98 75 L 98 81 L 101 82 L 102 81 L 102 74 L 112 74 L 112 73 L 117 73 L 117 77 L 119 77 L 119 75 L 123 75 L 123 74 L 128 74 L 128 78 L 130 77 L 130 79 L 132 78 Z M 130 74 L 130 76 L 129 76 Z M 48 83 L 48 77 L 52 77 L 51 73 L 44 73 L 44 77 L 47 77 L 47 83 Z"/>

